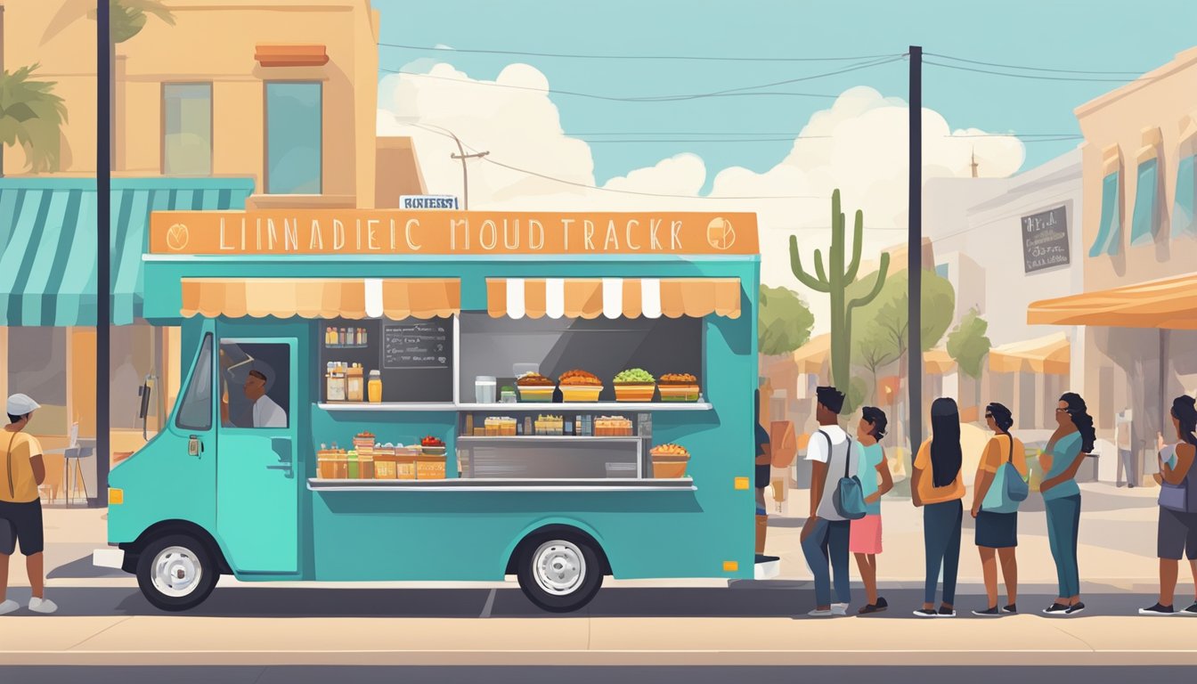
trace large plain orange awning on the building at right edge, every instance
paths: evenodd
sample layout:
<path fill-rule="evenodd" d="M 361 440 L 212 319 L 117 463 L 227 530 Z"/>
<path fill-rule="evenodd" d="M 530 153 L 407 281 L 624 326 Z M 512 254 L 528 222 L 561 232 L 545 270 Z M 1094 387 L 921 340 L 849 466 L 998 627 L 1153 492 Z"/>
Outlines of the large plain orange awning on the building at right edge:
<path fill-rule="evenodd" d="M 1031 325 L 1197 329 L 1197 273 L 1033 302 Z"/>

